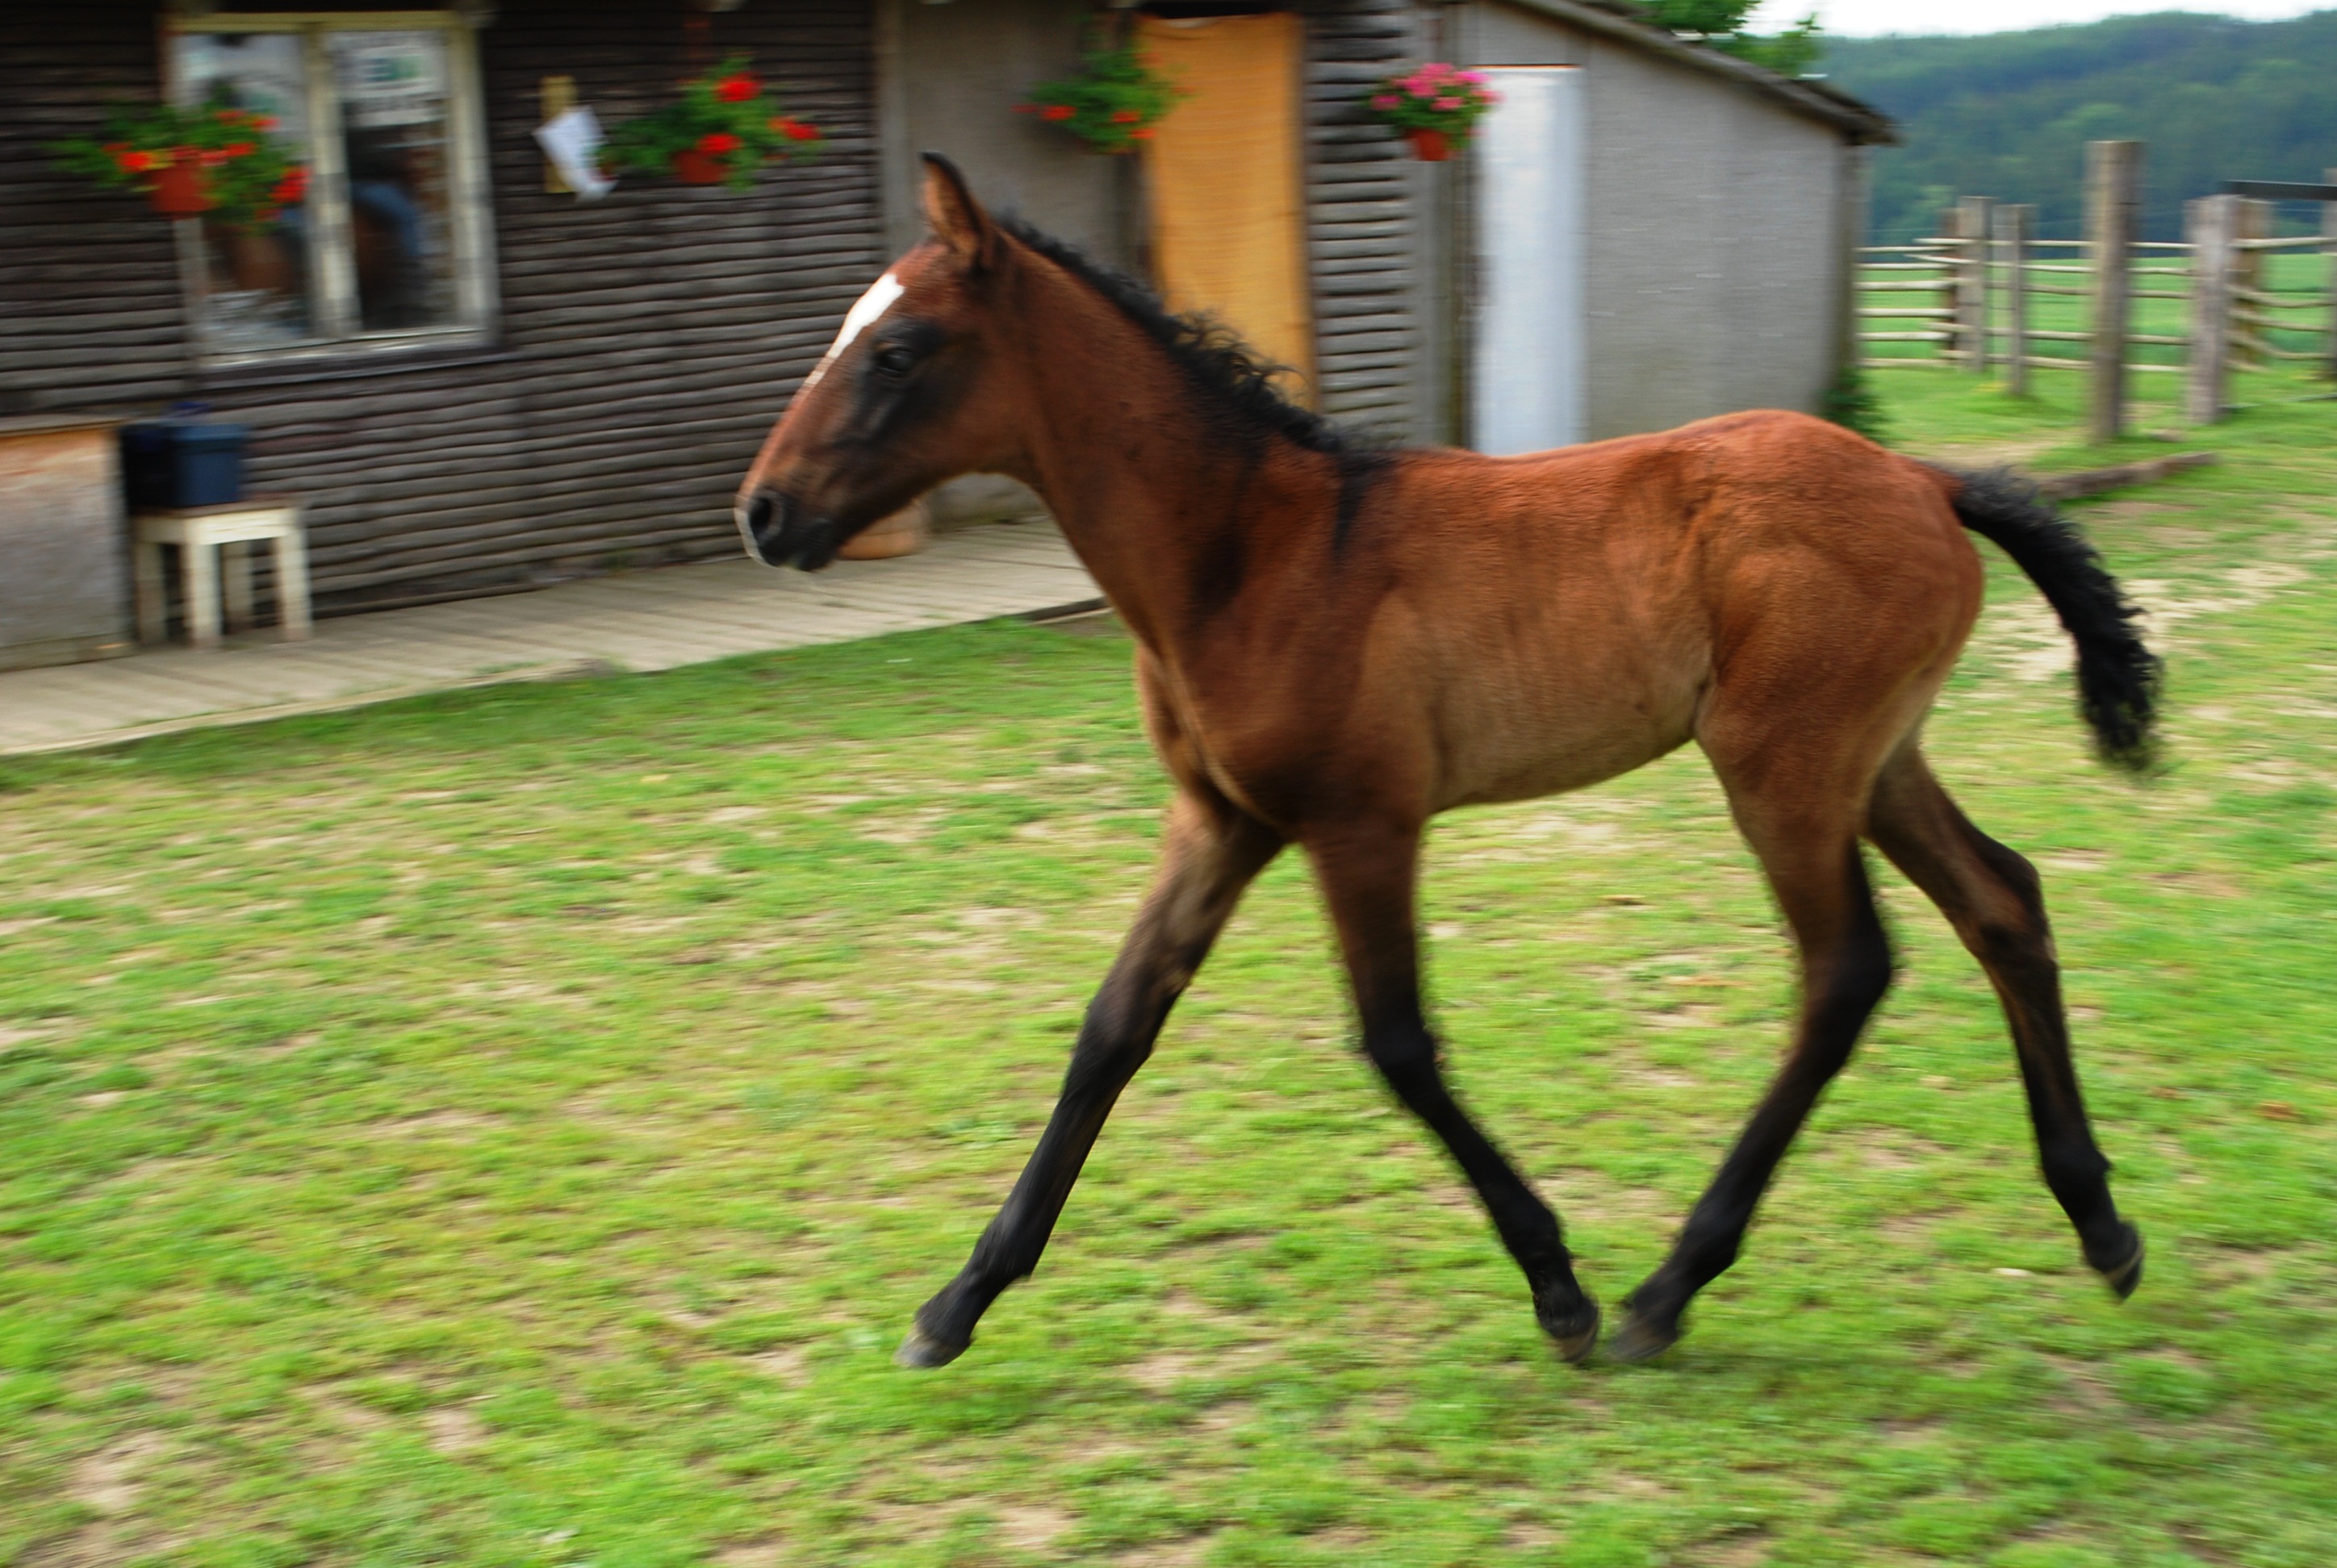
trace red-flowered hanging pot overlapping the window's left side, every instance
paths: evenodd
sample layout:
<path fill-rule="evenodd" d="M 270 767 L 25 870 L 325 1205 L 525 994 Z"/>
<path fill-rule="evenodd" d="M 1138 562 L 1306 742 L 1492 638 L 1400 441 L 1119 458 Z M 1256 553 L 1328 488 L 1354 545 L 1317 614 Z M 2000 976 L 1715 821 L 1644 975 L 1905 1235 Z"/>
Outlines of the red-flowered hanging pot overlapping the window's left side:
<path fill-rule="evenodd" d="M 259 234 L 308 194 L 308 171 L 269 131 L 266 115 L 213 98 L 199 110 L 175 103 L 115 105 L 105 136 L 77 136 L 49 152 L 65 173 L 105 189 L 140 192 L 164 217 L 210 215 L 236 234 Z"/>

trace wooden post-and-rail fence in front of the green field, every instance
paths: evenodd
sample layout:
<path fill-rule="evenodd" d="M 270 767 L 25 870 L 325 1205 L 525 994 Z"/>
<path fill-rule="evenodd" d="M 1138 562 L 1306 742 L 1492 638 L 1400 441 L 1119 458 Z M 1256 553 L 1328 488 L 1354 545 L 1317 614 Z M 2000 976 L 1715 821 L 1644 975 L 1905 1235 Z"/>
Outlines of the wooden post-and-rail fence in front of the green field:
<path fill-rule="evenodd" d="M 2176 376 L 2192 423 L 2229 409 L 2234 372 L 2311 365 L 2337 379 L 2337 201 L 2321 234 L 2276 236 L 2274 203 L 2199 196 L 2183 241 L 2136 238 L 2141 143 L 2087 145 L 2082 241 L 2038 238 L 2036 210 L 1965 196 L 1940 231 L 1858 250 L 1858 362 L 2000 374 L 2087 374 L 2089 428 L 2117 439 L 2131 376 Z M 2337 171 L 2330 171 L 2337 185 Z M 2307 266 L 2276 257 L 2325 257 Z"/>

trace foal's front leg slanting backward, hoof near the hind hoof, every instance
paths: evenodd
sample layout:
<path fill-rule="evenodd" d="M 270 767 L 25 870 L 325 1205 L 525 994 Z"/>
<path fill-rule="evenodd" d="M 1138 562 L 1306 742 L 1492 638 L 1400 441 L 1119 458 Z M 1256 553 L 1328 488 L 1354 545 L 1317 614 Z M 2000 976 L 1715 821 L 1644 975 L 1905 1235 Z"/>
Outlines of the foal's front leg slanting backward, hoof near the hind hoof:
<path fill-rule="evenodd" d="M 1533 1288 L 1533 1316 L 1559 1355 L 1582 1360 L 1599 1344 L 1599 1304 L 1575 1283 L 1559 1217 L 1477 1131 L 1444 1087 L 1437 1038 L 1421 1012 L 1419 935 L 1412 893 L 1419 825 L 1372 825 L 1309 839 L 1323 897 L 1339 928 L 1339 951 L 1355 986 L 1362 1049 L 1412 1112 L 1444 1140 L 1477 1187 L 1493 1229 Z"/>

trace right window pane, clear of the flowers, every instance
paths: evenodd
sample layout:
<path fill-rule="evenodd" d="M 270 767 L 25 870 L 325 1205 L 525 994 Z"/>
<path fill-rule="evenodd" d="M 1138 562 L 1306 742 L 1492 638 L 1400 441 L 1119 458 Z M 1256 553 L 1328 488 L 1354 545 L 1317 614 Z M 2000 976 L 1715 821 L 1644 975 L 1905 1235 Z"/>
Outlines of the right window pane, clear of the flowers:
<path fill-rule="evenodd" d="M 330 33 L 348 168 L 358 320 L 367 332 L 456 325 L 446 187 L 446 37 Z"/>

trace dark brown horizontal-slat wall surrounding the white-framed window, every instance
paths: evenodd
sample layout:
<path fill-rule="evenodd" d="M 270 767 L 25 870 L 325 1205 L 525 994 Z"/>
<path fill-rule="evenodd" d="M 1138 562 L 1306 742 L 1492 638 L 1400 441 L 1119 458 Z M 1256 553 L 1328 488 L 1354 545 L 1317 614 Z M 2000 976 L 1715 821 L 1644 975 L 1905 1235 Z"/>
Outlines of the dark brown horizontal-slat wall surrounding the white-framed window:
<path fill-rule="evenodd" d="M 194 397 L 248 423 L 248 486 L 308 502 L 325 612 L 734 551 L 738 474 L 886 257 L 872 28 L 867 0 L 750 0 L 692 51 L 682 16 L 673 0 L 505 0 L 479 33 L 493 344 L 206 369 L 168 224 L 44 152 L 108 100 L 159 91 L 157 12 L 16 0 L 0 30 L 0 414 Z M 617 122 L 734 49 L 830 133 L 820 161 L 750 194 L 638 175 L 598 203 L 545 192 L 542 77 L 575 77 Z"/>

